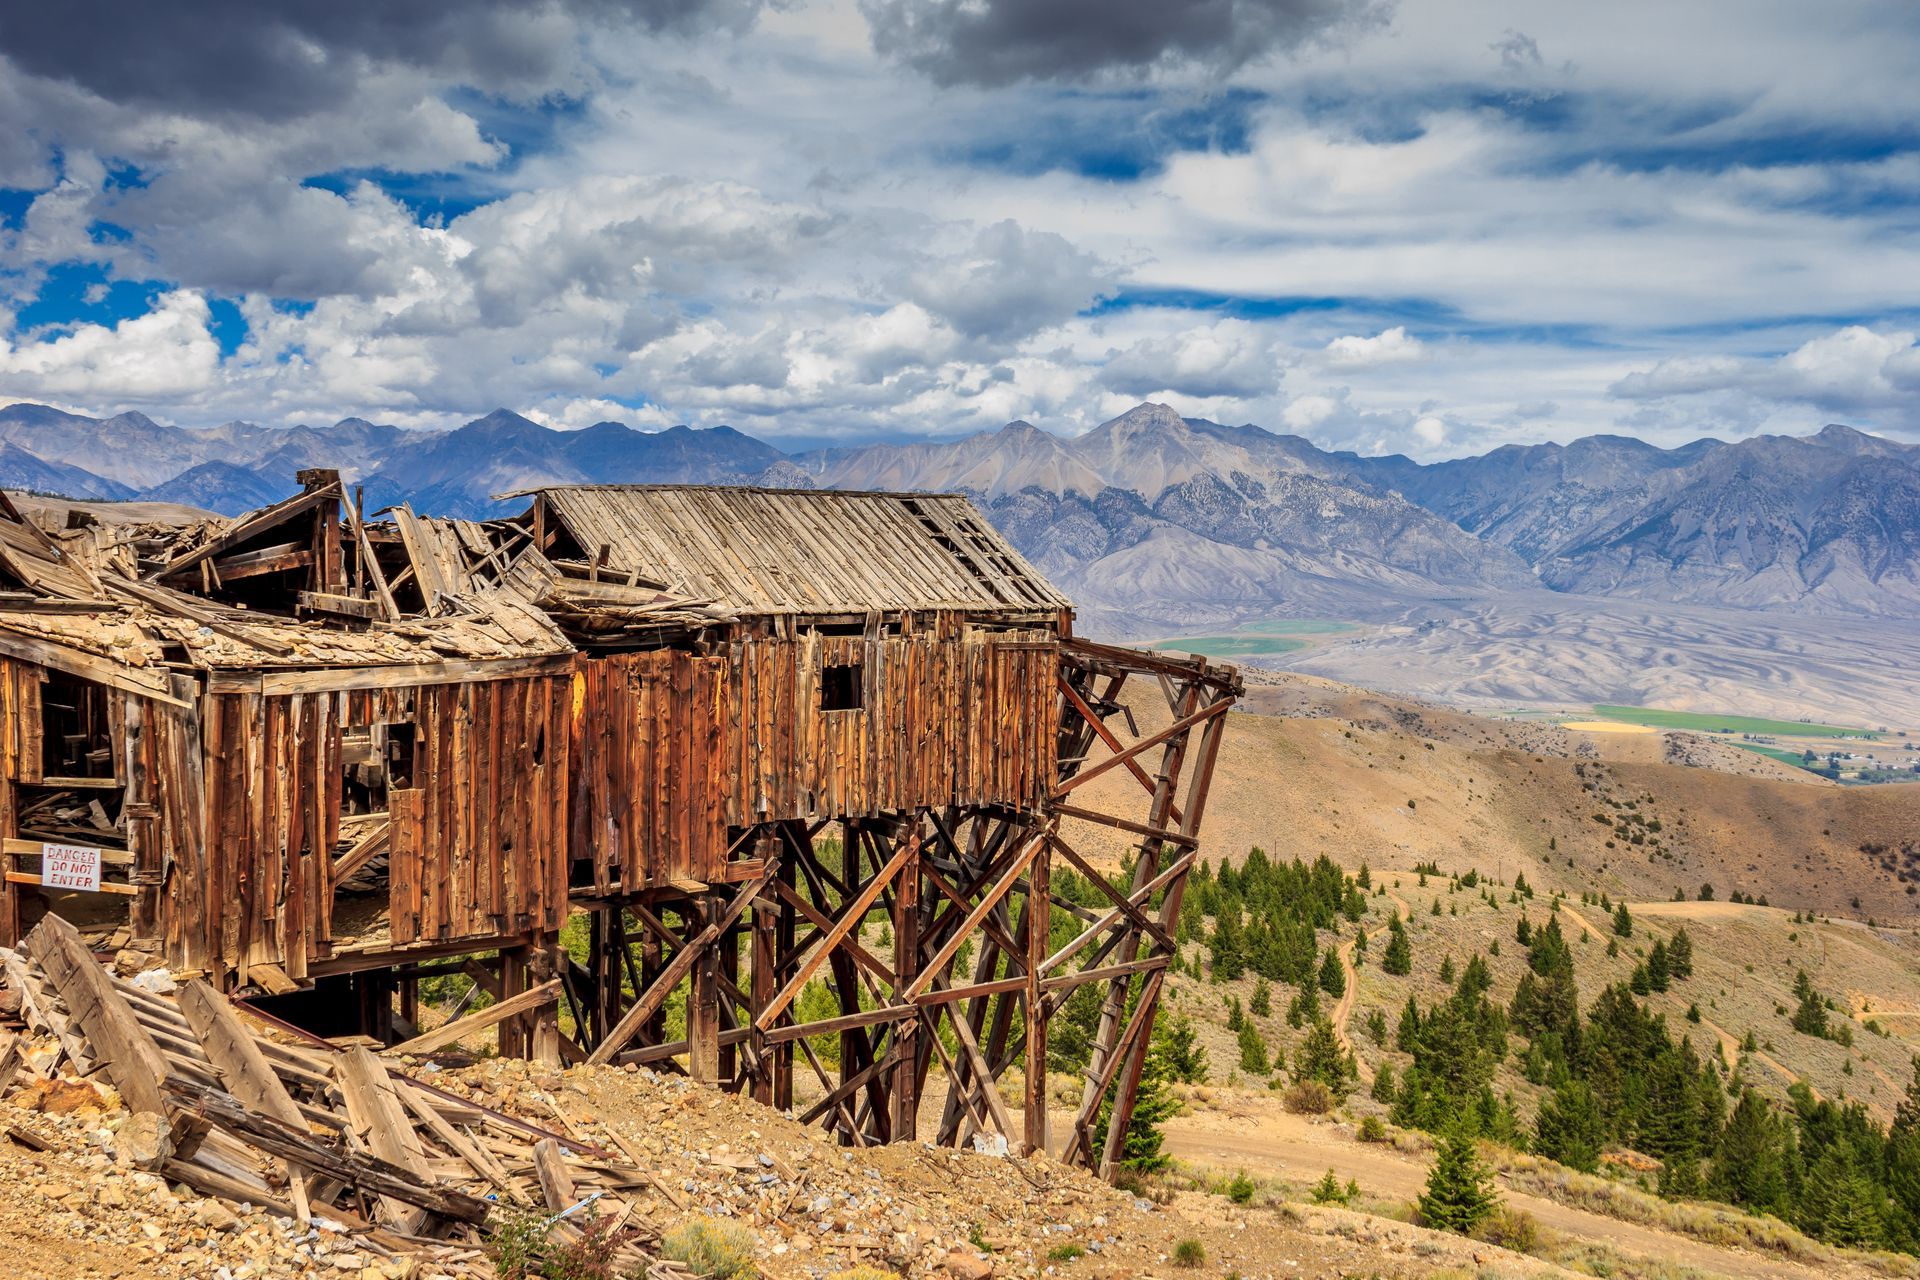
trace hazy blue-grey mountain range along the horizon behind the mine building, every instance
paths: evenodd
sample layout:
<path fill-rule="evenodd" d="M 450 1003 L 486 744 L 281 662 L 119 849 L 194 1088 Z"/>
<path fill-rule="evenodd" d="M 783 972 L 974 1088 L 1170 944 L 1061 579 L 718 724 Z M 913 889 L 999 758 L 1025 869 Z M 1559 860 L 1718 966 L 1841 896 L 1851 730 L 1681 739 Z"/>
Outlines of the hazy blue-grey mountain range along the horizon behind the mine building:
<path fill-rule="evenodd" d="M 451 432 L 173 428 L 0 409 L 0 486 L 234 514 L 301 466 L 369 510 L 488 516 L 540 484 L 960 489 L 1121 633 L 1265 616 L 1384 620 L 1515 591 L 1920 618 L 1920 447 L 1845 426 L 1659 449 L 1590 436 L 1421 464 L 1334 453 L 1144 403 L 1077 436 L 1010 422 L 954 441 L 783 453 L 732 428 L 557 432 L 505 409 Z"/>

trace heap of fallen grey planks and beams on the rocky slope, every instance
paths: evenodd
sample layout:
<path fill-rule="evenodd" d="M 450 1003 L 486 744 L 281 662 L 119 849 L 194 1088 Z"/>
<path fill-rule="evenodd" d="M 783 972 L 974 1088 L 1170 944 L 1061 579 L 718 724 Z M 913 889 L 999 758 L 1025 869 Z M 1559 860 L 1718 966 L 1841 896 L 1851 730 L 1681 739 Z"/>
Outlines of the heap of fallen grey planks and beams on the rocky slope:
<path fill-rule="evenodd" d="M 597 1228 L 616 1274 L 674 1274 L 649 1253 L 645 1215 L 634 1217 L 655 1180 L 609 1151 L 455 1098 L 365 1048 L 255 1034 L 205 983 L 163 996 L 123 981 L 58 915 L 0 961 L 19 1017 L 60 1040 L 75 1075 L 113 1082 L 134 1113 L 123 1153 L 167 1182 L 344 1228 L 372 1255 L 428 1255 L 440 1274 L 492 1274 L 482 1244 L 499 1215 L 547 1219 L 555 1242 Z M 23 1067 L 10 1054 L 0 1075 Z"/>

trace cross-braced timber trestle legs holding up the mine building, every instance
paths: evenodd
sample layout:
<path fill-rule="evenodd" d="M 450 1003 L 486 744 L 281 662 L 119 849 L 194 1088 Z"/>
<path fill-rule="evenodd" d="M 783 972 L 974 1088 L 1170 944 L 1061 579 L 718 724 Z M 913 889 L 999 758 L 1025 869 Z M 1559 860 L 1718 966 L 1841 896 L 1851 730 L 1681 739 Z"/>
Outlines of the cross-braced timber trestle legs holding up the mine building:
<path fill-rule="evenodd" d="M 1135 727 L 1119 700 L 1129 681 L 1158 687 L 1164 723 Z M 1092 1167 L 1096 1151 L 1119 1151 L 1133 1115 L 1225 712 L 1240 691 L 1227 666 L 1066 641 L 1058 777 L 1043 810 L 947 806 L 747 827 L 733 833 L 730 862 L 745 879 L 586 904 L 588 963 L 561 961 L 576 1027 L 564 1055 L 685 1071 L 778 1109 L 797 1105 L 799 1063 L 818 1080 L 799 1117 L 845 1144 L 927 1136 L 956 1146 L 998 1134 L 1014 1150 Z M 1081 793 L 1114 770 L 1140 785 L 1133 814 Z M 1137 841 L 1127 892 L 1062 835 L 1066 819 Z M 1050 890 L 1056 856 L 1108 910 Z M 1043 919 L 1035 902 L 1050 904 Z M 1052 946 L 1052 925 L 1066 917 L 1079 929 Z M 803 1019 L 801 994 L 816 981 L 831 1011 L 816 992 Z M 1050 1144 L 1048 1023 L 1087 983 L 1104 988 L 1092 1055 L 1071 1130 Z M 684 1031 L 670 1031 L 676 1023 Z M 837 1069 L 810 1044 L 820 1036 L 837 1036 Z M 948 1090 L 937 1132 L 922 1134 L 935 1061 Z M 998 1086 L 1016 1063 L 1025 1088 L 1018 1125 Z M 1112 1176 L 1112 1157 L 1100 1173 Z"/>

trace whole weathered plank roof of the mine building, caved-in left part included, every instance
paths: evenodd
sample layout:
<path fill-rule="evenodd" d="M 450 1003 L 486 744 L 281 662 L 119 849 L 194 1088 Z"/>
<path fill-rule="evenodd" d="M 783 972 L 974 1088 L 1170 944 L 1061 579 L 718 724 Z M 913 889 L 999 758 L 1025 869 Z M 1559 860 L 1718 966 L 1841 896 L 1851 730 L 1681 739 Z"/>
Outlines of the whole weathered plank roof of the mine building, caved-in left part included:
<path fill-rule="evenodd" d="M 553 486 L 515 520 L 363 516 L 338 472 L 188 524 L 0 493 L 0 654 L 165 697 L 180 670 L 541 658 L 741 616 L 1071 608 L 962 495 Z"/>

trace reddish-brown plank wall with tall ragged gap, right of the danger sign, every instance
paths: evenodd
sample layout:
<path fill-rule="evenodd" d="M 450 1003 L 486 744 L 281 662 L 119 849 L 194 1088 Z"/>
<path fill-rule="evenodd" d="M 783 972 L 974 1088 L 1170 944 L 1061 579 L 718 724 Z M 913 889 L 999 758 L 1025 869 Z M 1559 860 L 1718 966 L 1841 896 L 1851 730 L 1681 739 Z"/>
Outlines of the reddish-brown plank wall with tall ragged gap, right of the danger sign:
<path fill-rule="evenodd" d="M 328 871 L 340 837 L 340 735 L 411 723 L 413 787 L 388 794 L 390 929 L 397 946 L 559 929 L 566 902 L 564 676 L 401 689 L 205 699 L 205 839 L 192 716 L 177 716 L 161 908 L 188 963 L 284 963 L 332 942 Z"/>

